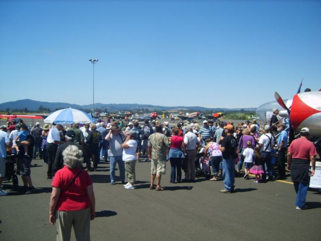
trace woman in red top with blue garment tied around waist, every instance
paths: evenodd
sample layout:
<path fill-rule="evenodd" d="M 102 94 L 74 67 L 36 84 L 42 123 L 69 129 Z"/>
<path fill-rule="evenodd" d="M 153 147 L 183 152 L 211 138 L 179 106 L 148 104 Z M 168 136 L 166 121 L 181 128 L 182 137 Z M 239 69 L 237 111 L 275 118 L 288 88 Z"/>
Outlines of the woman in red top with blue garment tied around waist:
<path fill-rule="evenodd" d="M 173 136 L 170 138 L 170 148 L 168 158 L 170 161 L 170 182 L 175 183 L 177 173 L 177 183 L 181 182 L 182 178 L 182 161 L 185 158 L 185 145 L 183 137 L 178 136 L 179 129 L 172 129 Z M 183 152 L 184 150 L 184 152 Z"/>

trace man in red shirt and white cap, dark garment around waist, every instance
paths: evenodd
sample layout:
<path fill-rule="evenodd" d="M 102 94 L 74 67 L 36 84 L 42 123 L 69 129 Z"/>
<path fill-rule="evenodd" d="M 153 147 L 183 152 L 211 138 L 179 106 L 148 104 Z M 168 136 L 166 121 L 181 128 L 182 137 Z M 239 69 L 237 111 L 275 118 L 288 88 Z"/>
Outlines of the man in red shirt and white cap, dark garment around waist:
<path fill-rule="evenodd" d="M 306 197 L 310 184 L 310 177 L 315 173 L 317 150 L 309 141 L 310 130 L 306 127 L 300 131 L 301 137 L 290 144 L 287 151 L 287 169 L 291 171 L 291 180 L 296 193 L 296 209 L 307 209 Z M 311 170 L 310 168 L 311 162 Z"/>

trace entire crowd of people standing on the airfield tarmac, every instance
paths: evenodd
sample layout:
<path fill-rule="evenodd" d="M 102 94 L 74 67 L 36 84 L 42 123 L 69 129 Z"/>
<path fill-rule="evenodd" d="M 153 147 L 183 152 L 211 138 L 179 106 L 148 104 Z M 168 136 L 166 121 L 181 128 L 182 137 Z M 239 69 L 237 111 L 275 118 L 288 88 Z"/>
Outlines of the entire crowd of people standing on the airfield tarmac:
<path fill-rule="evenodd" d="M 273 113 L 277 115 L 278 109 Z M 253 174 L 255 183 L 284 179 L 287 169 L 291 170 L 297 193 L 296 208 L 307 208 L 305 197 L 317 155 L 314 145 L 307 139 L 308 128 L 301 129 L 301 138 L 293 141 L 287 150 L 286 125 L 274 117 L 270 125 L 264 127 L 260 127 L 255 119 L 236 126 L 232 121 L 214 125 L 212 120 L 204 120 L 202 124 L 191 122 L 170 126 L 167 121 L 146 120 L 140 126 L 138 121 L 107 123 L 99 120 L 97 124 L 75 122 L 69 128 L 61 123 L 44 124 L 40 128 L 40 123 L 36 123 L 29 133 L 24 123 L 16 123 L 14 128 L 8 123 L 0 127 L 0 185 L 7 151 L 17 156 L 17 171 L 24 185 L 22 192 L 27 194 L 35 192 L 30 173 L 32 158 L 43 158 L 47 164 L 46 177 L 53 179 L 49 220 L 52 224 L 56 222 L 55 210 L 58 210 L 57 233 L 62 239 L 70 237 L 70 231 L 66 233 L 65 228 L 70 229 L 71 220 L 78 220 L 81 216 L 86 218 L 79 227 L 74 226 L 76 236 L 88 237 L 88 224 L 94 218 L 95 208 L 88 172 L 98 171 L 101 159 L 110 163 L 111 185 L 120 180 L 128 190 L 135 189 L 135 164 L 140 161 L 151 162 L 151 190 L 166 189 L 161 186 L 161 176 L 166 173 L 168 160 L 170 183 L 195 182 L 198 164 L 195 159 L 200 153 L 211 163 L 212 177 L 209 180 L 223 181 L 224 189 L 220 193 L 235 192 L 235 177 L 243 172 L 243 164 L 244 179 L 250 180 Z M 142 155 L 146 155 L 146 159 L 141 158 Z M 310 161 L 312 169 L 309 173 Z M 117 164 L 119 178 L 116 177 Z M 3 190 L 0 192 L 1 195 L 7 194 Z"/>

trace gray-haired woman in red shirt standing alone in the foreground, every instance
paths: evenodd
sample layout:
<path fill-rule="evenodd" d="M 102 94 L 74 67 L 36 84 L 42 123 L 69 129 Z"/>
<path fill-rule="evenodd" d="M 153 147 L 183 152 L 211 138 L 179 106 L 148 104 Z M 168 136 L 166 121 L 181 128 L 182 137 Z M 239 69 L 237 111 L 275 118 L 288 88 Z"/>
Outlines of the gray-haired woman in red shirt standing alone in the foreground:
<path fill-rule="evenodd" d="M 57 240 L 69 241 L 74 227 L 77 241 L 90 240 L 90 220 L 95 218 L 92 181 L 82 170 L 82 151 L 70 145 L 63 151 L 64 168 L 52 181 L 49 222 L 57 221 Z"/>

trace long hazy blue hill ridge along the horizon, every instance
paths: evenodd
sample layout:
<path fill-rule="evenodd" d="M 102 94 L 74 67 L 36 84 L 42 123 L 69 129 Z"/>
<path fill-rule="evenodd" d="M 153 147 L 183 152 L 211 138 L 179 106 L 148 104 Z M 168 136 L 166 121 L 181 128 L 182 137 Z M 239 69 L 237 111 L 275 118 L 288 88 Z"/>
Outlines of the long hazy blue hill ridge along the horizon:
<path fill-rule="evenodd" d="M 92 104 L 87 105 L 79 105 L 79 104 L 70 104 L 70 103 L 63 103 L 63 102 L 44 102 L 44 101 L 37 101 L 32 99 L 21 99 L 16 101 L 9 101 L 0 104 L 0 109 L 5 110 L 9 108 L 10 110 L 13 109 L 24 109 L 27 108 L 30 111 L 36 111 L 39 107 L 42 106 L 43 108 L 49 108 L 50 110 L 55 110 L 56 108 L 74 108 L 74 109 L 91 109 Z M 149 109 L 150 111 L 153 110 L 198 110 L 198 111 L 255 111 L 256 108 L 206 108 L 201 106 L 161 106 L 161 105 L 151 105 L 151 104 L 103 104 L 103 103 L 95 103 L 95 109 L 101 109 L 104 111 L 107 109 L 108 111 L 120 111 L 120 110 L 135 110 L 135 109 Z"/>

